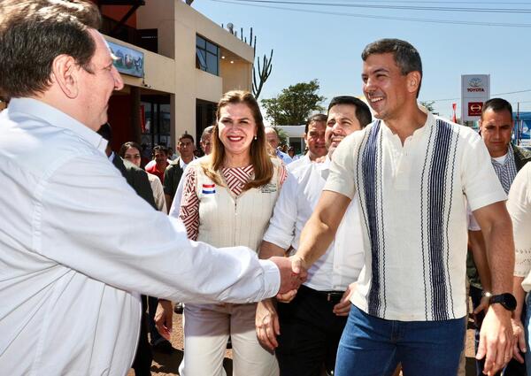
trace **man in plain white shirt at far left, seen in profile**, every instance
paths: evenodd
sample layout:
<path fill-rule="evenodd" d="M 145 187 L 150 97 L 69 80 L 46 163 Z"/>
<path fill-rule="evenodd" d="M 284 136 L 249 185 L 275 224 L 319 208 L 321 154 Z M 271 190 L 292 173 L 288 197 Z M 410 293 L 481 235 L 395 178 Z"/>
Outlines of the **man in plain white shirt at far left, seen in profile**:
<path fill-rule="evenodd" d="M 247 303 L 297 287 L 285 258 L 189 242 L 107 159 L 96 130 L 123 81 L 100 21 L 85 0 L 0 7 L 2 374 L 126 374 L 141 293 Z"/>

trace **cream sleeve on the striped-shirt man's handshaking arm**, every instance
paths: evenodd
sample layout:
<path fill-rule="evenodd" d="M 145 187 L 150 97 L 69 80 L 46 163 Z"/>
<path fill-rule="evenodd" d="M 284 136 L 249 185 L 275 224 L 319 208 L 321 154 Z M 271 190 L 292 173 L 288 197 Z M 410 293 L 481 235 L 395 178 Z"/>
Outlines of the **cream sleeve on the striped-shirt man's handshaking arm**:
<path fill-rule="evenodd" d="M 354 151 L 356 150 L 356 136 L 360 132 L 348 135 L 339 144 L 332 155 L 330 164 L 330 174 L 328 175 L 327 184 L 323 190 L 330 190 L 347 196 L 350 200 L 356 193 L 354 177 L 356 176 L 356 164 Z"/>

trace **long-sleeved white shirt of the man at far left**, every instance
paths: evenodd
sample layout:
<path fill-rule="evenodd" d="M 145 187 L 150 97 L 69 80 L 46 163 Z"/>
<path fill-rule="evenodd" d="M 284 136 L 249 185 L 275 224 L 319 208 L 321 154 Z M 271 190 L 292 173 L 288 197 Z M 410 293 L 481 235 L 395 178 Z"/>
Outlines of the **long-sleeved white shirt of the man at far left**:
<path fill-rule="evenodd" d="M 246 303 L 279 272 L 243 247 L 190 242 L 104 155 L 99 134 L 34 99 L 0 114 L 0 373 L 125 375 L 139 294 Z"/>

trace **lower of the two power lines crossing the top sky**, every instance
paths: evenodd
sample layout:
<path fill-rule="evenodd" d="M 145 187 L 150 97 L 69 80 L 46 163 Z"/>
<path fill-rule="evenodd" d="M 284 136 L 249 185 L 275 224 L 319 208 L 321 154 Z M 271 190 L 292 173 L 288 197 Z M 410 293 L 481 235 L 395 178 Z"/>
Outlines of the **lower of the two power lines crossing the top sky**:
<path fill-rule="evenodd" d="M 503 22 L 481 22 L 481 21 L 460 21 L 460 20 L 451 20 L 451 19 L 417 19 L 411 17 L 390 17 L 390 16 L 374 16 L 370 14 L 357 14 L 357 13 L 348 13 L 348 12 L 327 12 L 327 11 L 316 11 L 312 9 L 303 9 L 303 8 L 288 8 L 282 6 L 274 5 L 261 5 L 261 4 L 245 4 L 238 1 L 229 1 L 229 0 L 211 0 L 216 3 L 224 4 L 235 4 L 242 6 L 253 6 L 257 8 L 266 8 L 266 9 L 276 9 L 281 11 L 289 12 L 303 12 L 303 13 L 313 13 L 313 14 L 327 14 L 332 16 L 342 16 L 342 17 L 354 17 L 360 19 L 388 19 L 395 21 L 410 21 L 410 22 L 423 22 L 423 23 L 435 23 L 435 24 L 450 24 L 450 25 L 465 25 L 465 26 L 483 26 L 483 27 L 531 27 L 531 24 L 507 24 Z"/>

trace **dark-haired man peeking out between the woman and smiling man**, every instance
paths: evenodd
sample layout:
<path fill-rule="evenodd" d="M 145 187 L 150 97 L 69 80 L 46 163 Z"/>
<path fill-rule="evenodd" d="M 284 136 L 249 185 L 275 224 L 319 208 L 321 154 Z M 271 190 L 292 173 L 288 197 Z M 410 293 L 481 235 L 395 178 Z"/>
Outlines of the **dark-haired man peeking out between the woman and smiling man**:
<path fill-rule="evenodd" d="M 315 159 L 327 155 L 327 143 L 325 142 L 325 131 L 327 130 L 327 115 L 318 113 L 312 115 L 304 127 L 304 142 L 308 147 L 308 152 L 303 157 L 291 162 L 288 171 L 294 171 L 300 165 L 307 165 Z"/>

